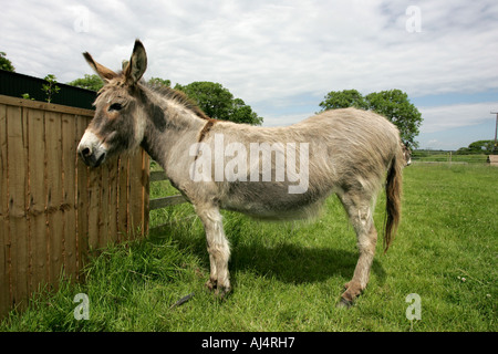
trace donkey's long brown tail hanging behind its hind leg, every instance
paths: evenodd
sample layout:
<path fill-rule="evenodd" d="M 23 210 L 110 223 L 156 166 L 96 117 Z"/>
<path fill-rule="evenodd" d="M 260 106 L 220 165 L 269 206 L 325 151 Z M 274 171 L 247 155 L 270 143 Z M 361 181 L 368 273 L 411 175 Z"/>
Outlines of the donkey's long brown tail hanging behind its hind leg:
<path fill-rule="evenodd" d="M 385 185 L 386 197 L 386 219 L 385 219 L 385 235 L 384 235 L 384 253 L 387 252 L 391 242 L 393 241 L 397 226 L 401 220 L 401 197 L 402 197 L 402 170 L 403 157 L 395 154 L 391 162 L 391 167 L 387 171 L 387 180 Z"/>

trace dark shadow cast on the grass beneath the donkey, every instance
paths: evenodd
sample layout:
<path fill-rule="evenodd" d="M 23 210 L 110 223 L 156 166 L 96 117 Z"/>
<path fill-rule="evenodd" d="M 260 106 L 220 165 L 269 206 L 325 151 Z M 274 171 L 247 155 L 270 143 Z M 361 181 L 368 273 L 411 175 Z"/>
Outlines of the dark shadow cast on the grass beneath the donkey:
<path fill-rule="evenodd" d="M 180 225 L 169 223 L 151 231 L 152 237 L 170 235 L 178 248 L 198 257 L 204 267 L 209 269 L 209 257 L 206 250 L 204 231 L 185 231 Z M 290 241 L 266 246 L 259 238 L 252 241 L 238 242 L 231 240 L 229 270 L 234 274 L 251 271 L 258 275 L 273 277 L 287 283 L 323 282 L 332 277 L 351 280 L 357 262 L 357 251 L 346 251 L 326 247 L 302 247 Z M 385 271 L 376 258 L 372 264 L 372 273 L 380 283 L 384 283 Z M 237 282 L 236 279 L 232 279 Z"/>

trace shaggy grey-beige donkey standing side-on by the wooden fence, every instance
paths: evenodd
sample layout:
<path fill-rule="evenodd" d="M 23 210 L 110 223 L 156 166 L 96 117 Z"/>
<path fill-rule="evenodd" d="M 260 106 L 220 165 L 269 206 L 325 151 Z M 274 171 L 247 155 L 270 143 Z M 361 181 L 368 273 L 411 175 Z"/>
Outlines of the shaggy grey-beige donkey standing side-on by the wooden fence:
<path fill-rule="evenodd" d="M 344 285 L 338 305 L 353 303 L 369 282 L 377 240 L 373 208 L 384 183 L 384 252 L 401 218 L 404 158 L 400 132 L 392 123 L 355 108 L 326 111 L 287 127 L 212 119 L 183 93 L 141 81 L 147 56 L 138 40 L 122 72 L 98 64 L 87 52 L 83 55 L 105 84 L 94 103 L 95 116 L 77 146 L 80 157 L 97 167 L 110 156 L 142 146 L 164 168 L 204 225 L 209 290 L 220 298 L 230 291 L 230 248 L 220 209 L 261 219 L 309 218 L 335 192 L 360 250 L 353 278 Z M 255 146 L 259 148 L 256 153 Z M 279 171 L 282 166 L 287 175 Z"/>

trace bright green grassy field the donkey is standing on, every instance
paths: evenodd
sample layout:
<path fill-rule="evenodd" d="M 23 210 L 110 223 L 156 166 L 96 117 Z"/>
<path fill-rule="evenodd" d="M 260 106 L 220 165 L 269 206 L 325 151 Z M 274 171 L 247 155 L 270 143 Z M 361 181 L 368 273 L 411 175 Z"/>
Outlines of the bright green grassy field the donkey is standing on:
<path fill-rule="evenodd" d="M 414 164 L 405 169 L 402 225 L 386 254 L 377 244 L 371 282 L 349 310 L 336 309 L 353 273 L 355 236 L 335 196 L 315 222 L 264 223 L 224 212 L 232 246 L 234 291 L 204 288 L 209 260 L 189 205 L 154 211 L 165 225 L 148 239 L 111 246 L 84 284 L 33 298 L 0 331 L 490 331 L 497 325 L 498 168 Z M 167 185 L 152 195 L 174 194 Z M 376 208 L 384 219 L 384 196 Z M 76 321 L 77 293 L 90 320 Z M 187 294 L 191 299 L 174 303 Z M 406 296 L 421 296 L 421 320 Z"/>

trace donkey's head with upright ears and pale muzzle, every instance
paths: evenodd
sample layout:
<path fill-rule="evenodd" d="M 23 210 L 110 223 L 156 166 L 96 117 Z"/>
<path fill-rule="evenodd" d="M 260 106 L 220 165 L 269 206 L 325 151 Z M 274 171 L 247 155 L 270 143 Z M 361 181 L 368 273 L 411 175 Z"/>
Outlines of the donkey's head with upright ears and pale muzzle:
<path fill-rule="evenodd" d="M 138 82 L 147 67 L 147 55 L 136 40 L 132 58 L 120 73 L 98 64 L 89 53 L 83 55 L 104 81 L 104 87 L 95 100 L 95 115 L 77 153 L 86 165 L 97 167 L 108 156 L 137 147 L 144 138 L 146 115 L 139 104 Z"/>

